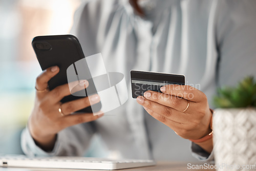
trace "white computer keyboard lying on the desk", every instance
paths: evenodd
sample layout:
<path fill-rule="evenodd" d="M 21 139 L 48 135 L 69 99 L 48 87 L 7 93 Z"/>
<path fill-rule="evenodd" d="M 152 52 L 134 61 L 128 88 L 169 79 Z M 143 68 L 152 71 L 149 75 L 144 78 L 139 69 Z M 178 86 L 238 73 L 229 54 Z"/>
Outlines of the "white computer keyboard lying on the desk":
<path fill-rule="evenodd" d="M 112 160 L 88 157 L 35 157 L 23 155 L 0 156 L 0 167 L 35 167 L 69 169 L 114 170 L 155 165 L 153 160 L 122 159 Z"/>

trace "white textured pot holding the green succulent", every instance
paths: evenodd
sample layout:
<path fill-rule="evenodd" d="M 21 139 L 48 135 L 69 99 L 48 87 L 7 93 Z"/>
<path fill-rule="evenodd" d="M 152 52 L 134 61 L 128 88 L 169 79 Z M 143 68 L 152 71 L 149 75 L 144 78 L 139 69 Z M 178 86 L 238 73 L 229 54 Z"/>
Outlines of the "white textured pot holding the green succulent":
<path fill-rule="evenodd" d="M 217 170 L 255 170 L 256 109 L 217 109 L 212 127 Z"/>

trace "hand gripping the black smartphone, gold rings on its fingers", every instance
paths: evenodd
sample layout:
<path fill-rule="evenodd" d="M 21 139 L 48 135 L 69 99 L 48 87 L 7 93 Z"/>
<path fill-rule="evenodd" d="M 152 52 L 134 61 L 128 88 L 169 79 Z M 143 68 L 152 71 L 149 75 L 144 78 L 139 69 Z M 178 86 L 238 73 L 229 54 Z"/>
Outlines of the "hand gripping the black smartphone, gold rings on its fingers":
<path fill-rule="evenodd" d="M 70 115 L 73 112 L 98 103 L 100 98 L 97 94 L 80 98 L 77 100 L 61 103 L 60 100 L 70 95 L 68 84 L 58 86 L 49 91 L 48 81 L 59 72 L 57 66 L 44 70 L 36 79 L 36 98 L 32 114 L 28 121 L 28 128 L 31 136 L 37 145 L 45 151 L 51 151 L 56 141 L 56 134 L 66 127 L 90 122 L 98 119 L 103 114 L 94 116 L 92 113 L 79 113 Z M 89 86 L 87 80 L 81 85 L 75 86 L 77 91 Z M 46 91 L 44 91 L 46 90 Z M 90 99 L 90 101 L 89 101 Z M 91 103 L 90 103 L 91 102 Z M 59 112 L 61 109 L 61 113 Z"/>

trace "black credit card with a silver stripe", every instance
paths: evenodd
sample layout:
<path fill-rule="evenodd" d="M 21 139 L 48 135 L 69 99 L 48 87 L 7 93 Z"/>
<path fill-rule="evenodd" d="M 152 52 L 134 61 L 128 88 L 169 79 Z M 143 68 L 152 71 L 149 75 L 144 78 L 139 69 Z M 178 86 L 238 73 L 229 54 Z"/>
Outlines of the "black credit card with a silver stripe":
<path fill-rule="evenodd" d="M 161 92 L 160 88 L 167 84 L 185 85 L 185 76 L 157 72 L 131 70 L 132 96 L 143 96 L 144 92 L 152 90 Z"/>

